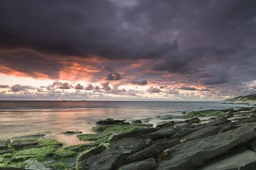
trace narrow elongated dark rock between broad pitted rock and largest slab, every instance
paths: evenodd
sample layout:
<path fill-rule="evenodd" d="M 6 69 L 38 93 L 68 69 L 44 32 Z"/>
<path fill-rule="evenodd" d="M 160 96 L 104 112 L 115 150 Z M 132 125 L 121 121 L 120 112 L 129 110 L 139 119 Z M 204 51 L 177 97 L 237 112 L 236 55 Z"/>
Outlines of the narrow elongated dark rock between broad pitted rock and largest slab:
<path fill-rule="evenodd" d="M 134 162 L 140 159 L 146 159 L 150 157 L 156 157 L 159 153 L 163 152 L 168 148 L 172 148 L 173 146 L 179 145 L 179 138 L 175 138 L 168 141 L 163 141 L 159 143 L 154 143 L 153 145 L 141 150 L 140 152 L 134 153 L 133 155 L 127 157 L 129 162 Z"/>

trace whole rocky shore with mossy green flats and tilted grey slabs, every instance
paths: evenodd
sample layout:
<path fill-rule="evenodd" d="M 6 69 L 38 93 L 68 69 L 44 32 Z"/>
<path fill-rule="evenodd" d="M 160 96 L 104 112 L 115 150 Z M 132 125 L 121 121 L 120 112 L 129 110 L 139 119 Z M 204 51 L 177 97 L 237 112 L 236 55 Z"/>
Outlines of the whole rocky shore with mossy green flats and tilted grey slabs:
<path fill-rule="evenodd" d="M 0 140 L 0 169 L 255 169 L 256 108 L 203 110 L 147 120 L 100 120 L 91 143 L 68 146 L 44 136 Z M 179 118 L 180 120 L 175 120 Z"/>

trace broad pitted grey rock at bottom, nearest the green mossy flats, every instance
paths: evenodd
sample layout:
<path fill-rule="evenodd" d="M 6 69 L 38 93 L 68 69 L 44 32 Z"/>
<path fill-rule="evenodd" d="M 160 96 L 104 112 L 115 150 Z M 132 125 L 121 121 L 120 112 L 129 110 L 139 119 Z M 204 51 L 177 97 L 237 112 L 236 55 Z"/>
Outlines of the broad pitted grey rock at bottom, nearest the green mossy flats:
<path fill-rule="evenodd" d="M 116 167 L 127 164 L 127 156 L 143 150 L 147 145 L 145 139 L 119 139 L 109 145 L 108 150 L 84 159 L 83 166 L 78 166 L 77 169 L 116 169 Z"/>

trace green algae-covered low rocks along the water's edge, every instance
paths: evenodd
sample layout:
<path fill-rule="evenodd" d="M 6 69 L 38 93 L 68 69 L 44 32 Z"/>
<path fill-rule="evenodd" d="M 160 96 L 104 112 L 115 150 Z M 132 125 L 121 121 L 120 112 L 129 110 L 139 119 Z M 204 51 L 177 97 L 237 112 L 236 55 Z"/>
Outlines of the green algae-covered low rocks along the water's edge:
<path fill-rule="evenodd" d="M 200 110 L 200 111 L 189 111 L 188 113 L 183 113 L 180 115 L 172 115 L 172 113 L 168 114 L 168 115 L 162 115 L 162 116 L 156 116 L 155 118 L 145 118 L 145 120 L 138 120 L 137 122 L 134 121 L 132 122 L 131 120 L 129 120 L 129 122 L 124 122 L 124 124 L 120 124 L 120 122 L 118 124 L 114 123 L 114 124 L 106 124 L 106 125 L 99 125 L 99 124 L 95 124 L 96 126 L 94 126 L 92 128 L 92 133 L 90 134 L 76 134 L 76 132 L 71 132 L 72 134 L 68 134 L 67 136 L 65 134 L 58 134 L 60 136 L 64 136 L 67 137 L 65 138 L 65 140 L 71 139 L 71 138 L 77 138 L 80 139 L 80 143 L 77 143 L 79 145 L 63 145 L 62 143 L 60 143 L 60 140 L 58 140 L 58 138 L 52 137 L 52 134 L 49 134 L 51 132 L 39 132 L 39 133 L 35 133 L 35 134 L 31 134 L 28 138 L 23 137 L 22 138 L 22 134 L 20 134 L 19 137 L 16 136 L 16 138 L 12 138 L 11 141 L 8 140 L 6 141 L 6 139 L 1 139 L 0 141 L 6 141 L 6 143 L 8 143 L 7 148 L 5 147 L 5 149 L 10 150 L 10 152 L 7 153 L 2 153 L 0 154 L 0 167 L 26 167 L 29 169 L 33 169 L 33 165 L 37 164 L 37 167 L 35 169 L 49 169 L 49 168 L 53 168 L 53 169 L 62 169 L 63 167 L 66 168 L 70 168 L 70 169 L 76 169 L 76 159 L 77 157 L 79 157 L 79 154 L 86 152 L 86 149 L 88 151 L 88 148 L 92 149 L 93 147 L 99 147 L 100 145 L 111 145 L 111 143 L 109 143 L 109 138 L 113 138 L 113 136 L 115 136 L 116 134 L 122 134 L 122 133 L 126 133 L 126 132 L 130 132 L 130 131 L 134 131 L 134 129 L 139 128 L 139 129 L 150 129 L 150 128 L 161 128 L 161 129 L 168 129 L 168 128 L 173 128 L 173 127 L 177 127 L 177 128 L 196 128 L 199 127 L 201 125 L 205 125 L 205 124 L 209 124 L 209 122 L 212 122 L 216 119 L 218 119 L 218 117 L 225 117 L 225 115 L 227 115 L 230 111 L 234 111 L 234 115 L 239 115 L 239 117 L 236 118 L 229 118 L 232 122 L 236 122 L 237 120 L 240 119 L 244 119 L 244 118 L 248 118 L 248 115 L 246 116 L 246 111 L 248 110 L 252 110 L 253 107 L 250 106 L 248 108 L 240 108 L 240 109 L 234 109 L 234 108 L 230 108 L 230 109 L 226 109 L 226 110 Z M 245 112 L 243 112 L 245 111 Z M 110 119 L 109 119 L 110 120 Z M 155 121 L 154 124 L 151 124 L 152 121 Z M 157 121 L 156 121 L 157 120 Z M 112 120 L 111 120 L 112 121 Z M 256 121 L 256 120 L 255 120 Z M 161 122 L 161 123 L 160 123 Z M 102 129 L 102 127 L 104 127 Z M 192 131 L 191 131 L 192 132 Z M 47 134 L 48 133 L 48 134 Z M 43 135 L 44 134 L 44 135 Z M 103 135 L 102 135 L 103 134 Z M 40 136 L 43 135 L 43 136 Z M 100 136 L 99 136 L 100 135 Z M 31 138 L 30 138 L 31 137 Z M 35 138 L 34 138 L 35 137 Z M 26 146 L 24 148 L 18 148 L 13 149 L 13 147 L 10 148 L 10 146 L 13 145 L 13 141 L 18 140 L 19 141 L 20 138 L 20 142 L 22 143 L 23 141 L 28 142 L 29 140 L 32 140 L 34 143 L 37 143 L 36 145 L 29 145 L 29 147 L 27 148 Z M 23 140 L 23 141 L 22 141 Z M 43 140 L 43 141 L 42 141 Z M 44 140 L 50 140 L 50 144 L 45 144 L 45 145 L 40 145 L 38 143 L 45 143 Z M 54 143 L 54 146 L 52 146 L 51 143 Z M 29 143 L 31 143 L 31 141 L 29 141 Z M 0 143 L 1 144 L 1 143 Z M 28 143 L 27 143 L 28 144 Z M 1 146 L 1 145 L 0 145 Z M 51 154 L 53 154 L 53 156 L 49 156 L 49 155 L 44 155 L 44 158 L 42 159 L 43 161 L 34 161 L 34 162 L 29 162 L 27 160 L 33 160 L 33 159 L 38 159 L 38 157 L 41 157 L 39 155 L 37 155 L 36 157 L 31 157 L 29 159 L 23 158 L 24 160 L 20 161 L 20 159 L 18 159 L 19 164 L 17 164 L 17 160 L 15 159 L 15 154 L 17 155 L 18 153 L 20 153 L 20 149 L 22 151 L 24 150 L 31 150 L 33 148 L 44 148 L 44 147 L 50 147 L 52 152 Z M 70 150 L 69 148 L 80 148 L 79 152 L 74 152 L 74 150 Z M 86 148 L 86 149 L 84 149 Z M 0 151 L 1 151 L 1 147 L 0 147 Z M 83 151 L 83 152 L 82 152 Z M 41 151 L 40 151 L 41 152 Z M 0 152 L 1 153 L 1 152 Z M 7 159 L 15 159 L 15 162 L 10 163 L 10 165 L 8 166 L 8 164 L 3 163 L 4 160 L 1 160 L 1 157 L 3 159 L 6 159 L 6 154 L 7 154 Z M 51 155 L 50 154 L 50 155 Z M 56 156 L 58 155 L 58 156 Z M 64 155 L 64 156 L 60 156 L 60 155 Z M 24 155 L 22 156 L 24 157 Z M 39 159 L 40 160 L 40 159 Z M 51 163 L 49 163 L 49 160 Z M 1 162 L 2 161 L 2 162 Z M 70 163 L 71 162 L 71 163 Z M 4 166 L 3 166 L 4 165 Z"/>

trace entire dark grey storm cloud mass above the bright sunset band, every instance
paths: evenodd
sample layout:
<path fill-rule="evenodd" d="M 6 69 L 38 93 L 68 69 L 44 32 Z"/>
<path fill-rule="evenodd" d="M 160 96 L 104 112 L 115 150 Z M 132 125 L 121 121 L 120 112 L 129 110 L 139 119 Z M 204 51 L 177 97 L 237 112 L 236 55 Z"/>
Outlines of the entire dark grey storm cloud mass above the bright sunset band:
<path fill-rule="evenodd" d="M 96 55 L 112 62 L 100 77 L 121 80 L 121 62 L 145 59 L 122 79 L 228 89 L 256 80 L 255 11 L 254 0 L 0 1 L 0 64 L 56 79 L 62 60 Z"/>

